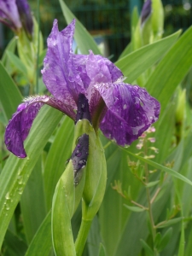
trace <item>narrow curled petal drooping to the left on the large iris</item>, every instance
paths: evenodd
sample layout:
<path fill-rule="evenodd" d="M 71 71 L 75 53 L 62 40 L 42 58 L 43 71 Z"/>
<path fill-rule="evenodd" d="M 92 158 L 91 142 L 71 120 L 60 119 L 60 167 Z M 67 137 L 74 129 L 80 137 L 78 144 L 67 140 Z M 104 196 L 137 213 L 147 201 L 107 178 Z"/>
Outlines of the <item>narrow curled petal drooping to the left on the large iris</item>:
<path fill-rule="evenodd" d="M 21 103 L 17 108 L 12 119 L 9 120 L 9 124 L 5 131 L 6 147 L 10 152 L 20 158 L 26 157 L 23 142 L 29 134 L 32 122 L 36 118 L 39 109 L 42 108 L 44 104 L 57 108 L 72 119 L 75 119 L 73 108 L 55 98 L 49 96 L 34 96 L 27 98 L 26 101 Z"/>

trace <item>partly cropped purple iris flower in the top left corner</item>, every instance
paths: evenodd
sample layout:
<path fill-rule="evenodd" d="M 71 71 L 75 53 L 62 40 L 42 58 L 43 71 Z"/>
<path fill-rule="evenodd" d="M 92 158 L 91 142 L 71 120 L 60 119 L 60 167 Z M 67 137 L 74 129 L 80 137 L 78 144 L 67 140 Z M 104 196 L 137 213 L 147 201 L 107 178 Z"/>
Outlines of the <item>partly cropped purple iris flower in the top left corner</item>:
<path fill-rule="evenodd" d="M 0 21 L 15 33 L 23 26 L 28 37 L 32 37 L 32 14 L 26 0 L 0 0 Z"/>

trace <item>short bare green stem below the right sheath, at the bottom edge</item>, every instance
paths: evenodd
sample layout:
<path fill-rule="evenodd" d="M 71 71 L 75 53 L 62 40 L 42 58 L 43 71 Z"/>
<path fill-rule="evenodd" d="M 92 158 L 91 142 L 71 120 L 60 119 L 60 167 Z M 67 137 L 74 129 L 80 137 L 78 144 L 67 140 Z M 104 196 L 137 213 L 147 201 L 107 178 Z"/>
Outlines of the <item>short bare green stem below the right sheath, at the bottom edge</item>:
<path fill-rule="evenodd" d="M 76 249 L 77 256 L 81 256 L 82 253 L 84 252 L 84 245 L 87 240 L 91 223 L 92 223 L 92 220 L 90 219 L 86 220 L 82 218 L 79 234 L 75 241 L 75 249 Z"/>

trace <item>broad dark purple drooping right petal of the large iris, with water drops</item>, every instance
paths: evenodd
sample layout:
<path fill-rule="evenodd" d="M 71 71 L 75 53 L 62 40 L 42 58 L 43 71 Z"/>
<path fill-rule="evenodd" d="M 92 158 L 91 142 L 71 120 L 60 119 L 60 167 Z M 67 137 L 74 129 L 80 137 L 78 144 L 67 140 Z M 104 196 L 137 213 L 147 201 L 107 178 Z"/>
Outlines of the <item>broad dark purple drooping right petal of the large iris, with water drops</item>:
<path fill-rule="evenodd" d="M 160 102 L 131 84 L 96 84 L 108 107 L 100 128 L 121 146 L 130 145 L 159 118 Z"/>

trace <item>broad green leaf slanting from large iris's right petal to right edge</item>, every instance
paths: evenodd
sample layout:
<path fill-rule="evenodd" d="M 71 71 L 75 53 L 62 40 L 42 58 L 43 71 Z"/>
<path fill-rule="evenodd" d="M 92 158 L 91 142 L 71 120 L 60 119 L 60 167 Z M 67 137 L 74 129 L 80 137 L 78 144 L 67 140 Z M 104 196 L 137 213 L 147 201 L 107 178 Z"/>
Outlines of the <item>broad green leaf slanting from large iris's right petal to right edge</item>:
<path fill-rule="evenodd" d="M 192 65 L 191 38 L 192 26 L 172 46 L 145 84 L 148 92 L 160 101 L 161 113 Z"/>

